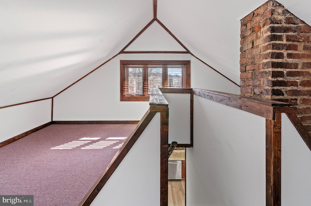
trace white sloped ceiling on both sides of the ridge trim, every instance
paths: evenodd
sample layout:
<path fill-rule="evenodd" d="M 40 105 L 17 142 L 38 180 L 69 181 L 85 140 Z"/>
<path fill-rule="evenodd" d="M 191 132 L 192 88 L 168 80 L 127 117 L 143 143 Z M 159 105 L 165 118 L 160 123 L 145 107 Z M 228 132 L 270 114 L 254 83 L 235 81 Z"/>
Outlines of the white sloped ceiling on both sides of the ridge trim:
<path fill-rule="evenodd" d="M 265 0 L 157 0 L 157 18 L 239 84 L 240 19 Z M 310 0 L 279 0 L 311 25 Z M 153 0 L 0 0 L 0 107 L 52 97 L 116 55 Z"/>

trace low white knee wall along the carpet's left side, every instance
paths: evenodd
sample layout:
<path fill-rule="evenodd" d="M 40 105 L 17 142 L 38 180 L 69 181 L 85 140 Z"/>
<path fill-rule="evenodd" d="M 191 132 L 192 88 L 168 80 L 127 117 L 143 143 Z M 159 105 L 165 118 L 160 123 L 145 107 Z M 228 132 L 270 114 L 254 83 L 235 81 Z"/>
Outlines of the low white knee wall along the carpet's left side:
<path fill-rule="evenodd" d="M 0 142 L 51 121 L 51 99 L 0 109 Z"/>

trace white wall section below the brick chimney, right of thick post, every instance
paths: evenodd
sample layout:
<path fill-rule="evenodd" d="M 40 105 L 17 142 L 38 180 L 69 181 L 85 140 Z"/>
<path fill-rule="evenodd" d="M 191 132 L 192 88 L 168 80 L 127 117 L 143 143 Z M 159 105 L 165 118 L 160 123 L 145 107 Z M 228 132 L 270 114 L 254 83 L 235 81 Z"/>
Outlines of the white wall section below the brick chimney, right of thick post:
<path fill-rule="evenodd" d="M 286 114 L 282 114 L 282 206 L 310 206 L 311 151 Z"/>

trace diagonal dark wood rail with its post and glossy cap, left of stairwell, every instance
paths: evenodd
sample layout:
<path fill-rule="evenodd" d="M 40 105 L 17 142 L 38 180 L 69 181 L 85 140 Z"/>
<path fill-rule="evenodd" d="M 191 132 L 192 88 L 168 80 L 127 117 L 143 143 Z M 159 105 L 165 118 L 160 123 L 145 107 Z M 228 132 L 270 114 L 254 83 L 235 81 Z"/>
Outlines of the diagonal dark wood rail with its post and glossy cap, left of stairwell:
<path fill-rule="evenodd" d="M 91 189 L 87 192 L 86 196 L 80 202 L 79 206 L 89 206 L 95 197 L 102 190 L 110 176 L 115 172 L 121 161 L 125 158 L 126 154 L 136 143 L 141 133 L 145 130 L 148 124 L 151 122 L 156 112 L 160 112 L 160 198 L 161 206 L 167 206 L 168 200 L 168 103 L 165 97 L 162 95 L 159 89 L 155 88 L 150 95 L 150 108 L 139 121 L 135 130 L 127 138 L 121 149 L 114 156 L 109 165 L 105 168 L 103 173 L 93 184 Z"/>

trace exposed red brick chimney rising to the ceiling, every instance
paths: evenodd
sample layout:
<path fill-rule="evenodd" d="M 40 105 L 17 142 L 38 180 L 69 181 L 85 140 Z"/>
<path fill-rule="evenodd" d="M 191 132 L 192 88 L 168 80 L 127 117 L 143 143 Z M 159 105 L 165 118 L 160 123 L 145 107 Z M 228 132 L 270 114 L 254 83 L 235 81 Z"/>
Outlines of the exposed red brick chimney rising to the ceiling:
<path fill-rule="evenodd" d="M 241 95 L 293 104 L 311 132 L 311 27 L 275 0 L 241 20 Z"/>

